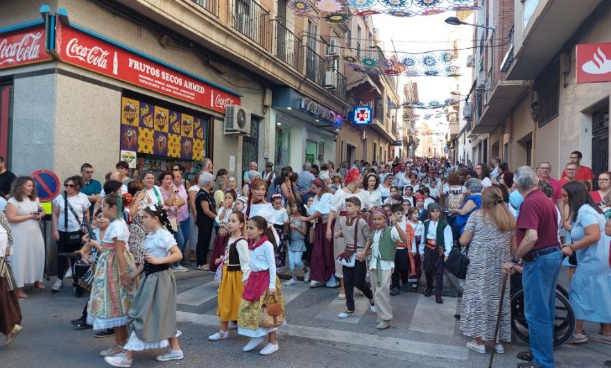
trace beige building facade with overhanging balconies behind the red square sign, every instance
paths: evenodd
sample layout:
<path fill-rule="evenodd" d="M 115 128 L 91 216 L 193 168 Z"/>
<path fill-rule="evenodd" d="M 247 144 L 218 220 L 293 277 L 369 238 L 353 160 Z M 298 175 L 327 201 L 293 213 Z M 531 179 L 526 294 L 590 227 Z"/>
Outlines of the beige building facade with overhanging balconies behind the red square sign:
<path fill-rule="evenodd" d="M 576 82 L 576 46 L 610 42 L 608 1 L 485 1 L 474 77 L 473 155 L 510 167 L 549 161 L 558 177 L 570 152 L 595 173 L 609 167 L 609 82 Z M 594 55 L 592 55 L 594 60 Z M 604 60 L 602 60 L 604 62 Z M 610 61 L 611 62 L 611 61 Z"/>

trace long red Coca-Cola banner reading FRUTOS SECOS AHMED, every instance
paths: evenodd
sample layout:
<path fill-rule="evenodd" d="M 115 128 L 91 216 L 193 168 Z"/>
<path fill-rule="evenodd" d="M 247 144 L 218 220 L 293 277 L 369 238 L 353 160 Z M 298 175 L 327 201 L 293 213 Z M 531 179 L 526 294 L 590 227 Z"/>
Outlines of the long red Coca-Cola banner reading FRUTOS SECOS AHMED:
<path fill-rule="evenodd" d="M 225 113 L 241 98 L 58 21 L 56 53 L 63 62 Z"/>

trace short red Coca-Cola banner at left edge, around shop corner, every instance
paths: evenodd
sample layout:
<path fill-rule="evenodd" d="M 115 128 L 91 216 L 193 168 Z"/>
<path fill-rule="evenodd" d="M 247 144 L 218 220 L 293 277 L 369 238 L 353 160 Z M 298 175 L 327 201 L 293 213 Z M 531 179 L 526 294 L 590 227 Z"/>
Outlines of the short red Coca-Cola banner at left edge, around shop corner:
<path fill-rule="evenodd" d="M 44 41 L 44 24 L 0 35 L 0 69 L 51 60 Z"/>

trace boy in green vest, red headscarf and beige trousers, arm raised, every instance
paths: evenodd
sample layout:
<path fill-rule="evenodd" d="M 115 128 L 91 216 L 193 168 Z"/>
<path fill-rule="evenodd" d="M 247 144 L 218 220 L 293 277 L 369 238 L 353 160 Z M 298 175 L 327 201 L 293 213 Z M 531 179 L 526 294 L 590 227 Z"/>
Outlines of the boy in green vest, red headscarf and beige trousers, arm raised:
<path fill-rule="evenodd" d="M 395 215 L 390 215 L 392 226 L 386 226 L 386 212 L 375 209 L 371 213 L 375 231 L 372 235 L 370 273 L 371 286 L 375 298 L 375 309 L 378 315 L 376 328 L 383 330 L 390 327 L 393 320 L 393 309 L 390 307 L 390 277 L 395 268 L 397 241 L 405 241 L 405 232 L 399 226 Z M 369 249 L 365 249 L 368 251 Z"/>

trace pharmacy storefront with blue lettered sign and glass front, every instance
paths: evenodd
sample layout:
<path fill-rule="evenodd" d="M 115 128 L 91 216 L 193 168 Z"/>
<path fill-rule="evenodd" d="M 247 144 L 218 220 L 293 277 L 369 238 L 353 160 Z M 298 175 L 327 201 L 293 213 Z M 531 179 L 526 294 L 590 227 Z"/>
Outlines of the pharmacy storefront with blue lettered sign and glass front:
<path fill-rule="evenodd" d="M 273 90 L 271 119 L 275 124 L 274 162 L 277 168 L 304 161 L 335 161 L 335 143 L 343 114 L 290 88 Z"/>

